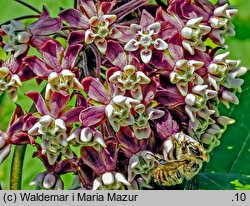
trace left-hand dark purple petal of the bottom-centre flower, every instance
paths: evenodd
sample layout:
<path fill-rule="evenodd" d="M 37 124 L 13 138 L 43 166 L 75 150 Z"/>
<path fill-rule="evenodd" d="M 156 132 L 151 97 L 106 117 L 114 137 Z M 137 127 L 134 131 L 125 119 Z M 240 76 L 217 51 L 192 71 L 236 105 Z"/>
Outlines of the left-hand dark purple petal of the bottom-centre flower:
<path fill-rule="evenodd" d="M 96 151 L 93 147 L 82 147 L 81 158 L 83 162 L 91 167 L 97 174 L 102 174 L 106 171 L 100 157 L 100 152 Z"/>

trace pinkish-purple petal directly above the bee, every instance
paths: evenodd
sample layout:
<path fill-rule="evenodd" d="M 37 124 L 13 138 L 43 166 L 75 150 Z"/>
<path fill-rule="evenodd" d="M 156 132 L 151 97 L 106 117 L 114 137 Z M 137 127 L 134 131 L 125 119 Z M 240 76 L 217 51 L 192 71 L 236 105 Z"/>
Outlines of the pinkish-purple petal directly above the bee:
<path fill-rule="evenodd" d="M 163 109 L 165 114 L 163 117 L 154 121 L 155 130 L 162 140 L 166 140 L 169 136 L 179 131 L 177 123 L 172 119 L 167 109 Z"/>

